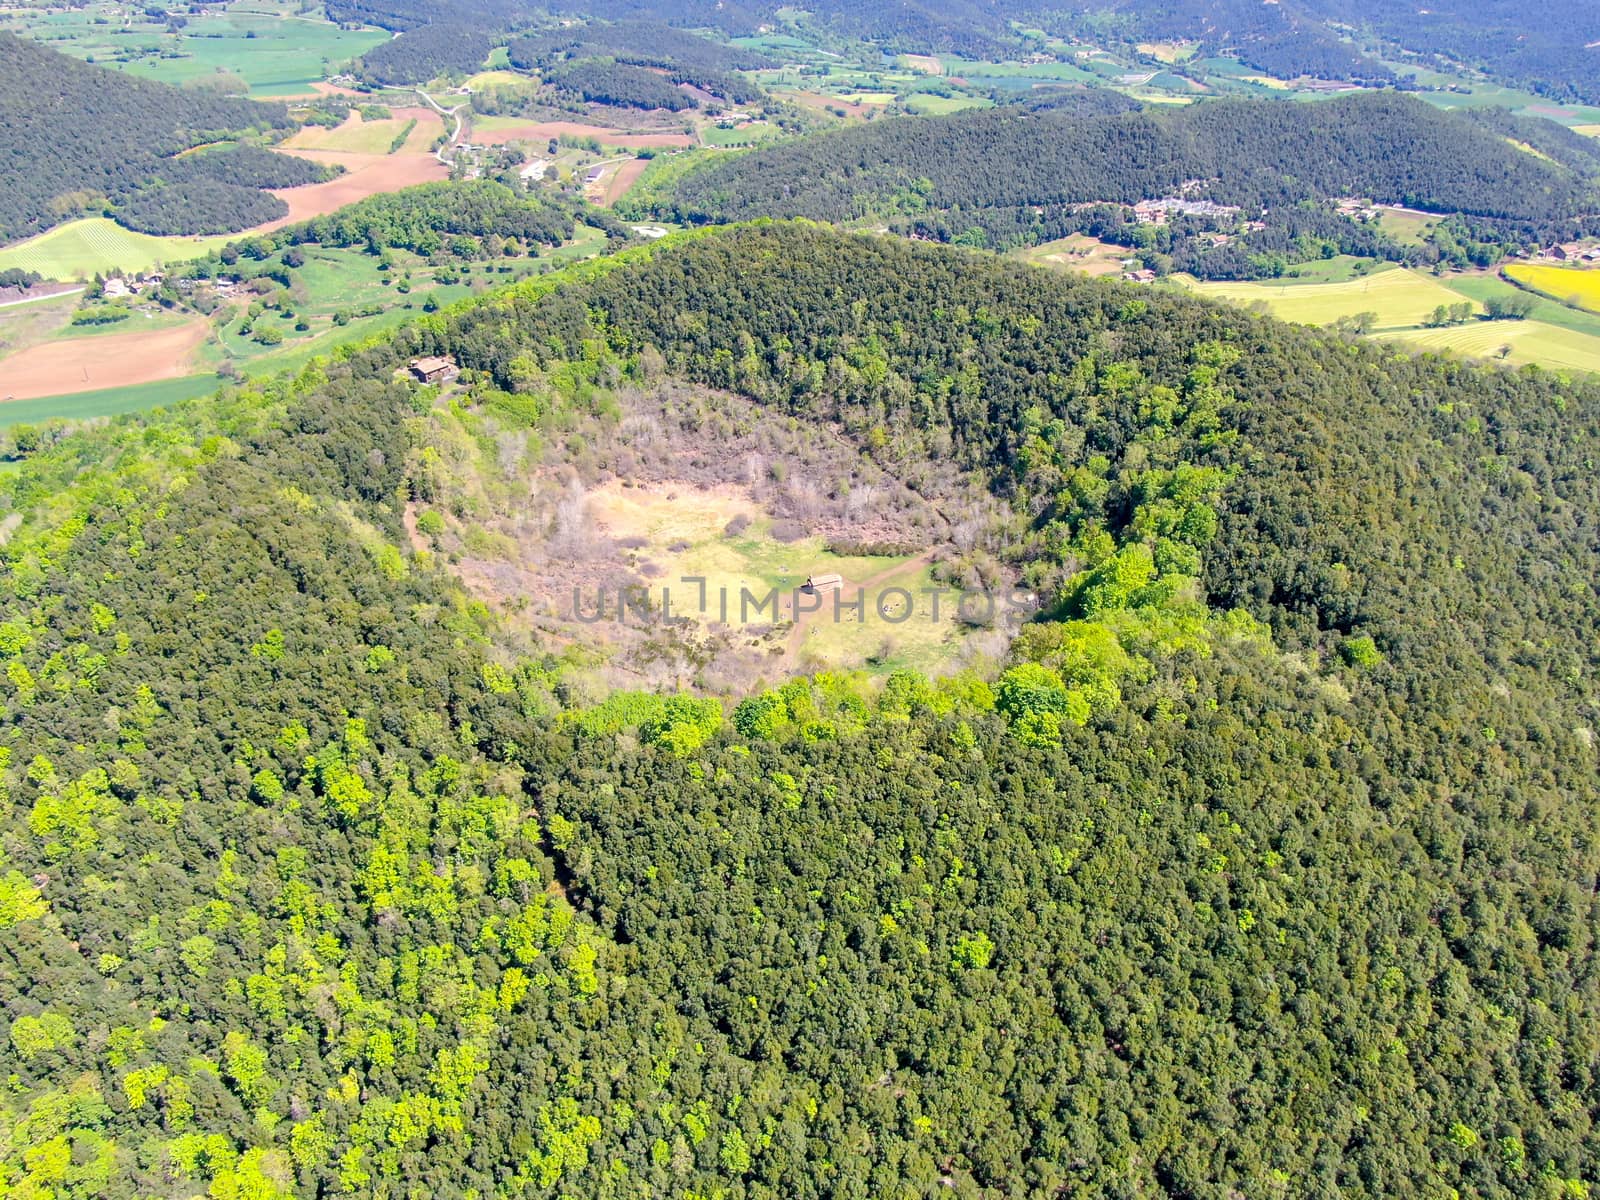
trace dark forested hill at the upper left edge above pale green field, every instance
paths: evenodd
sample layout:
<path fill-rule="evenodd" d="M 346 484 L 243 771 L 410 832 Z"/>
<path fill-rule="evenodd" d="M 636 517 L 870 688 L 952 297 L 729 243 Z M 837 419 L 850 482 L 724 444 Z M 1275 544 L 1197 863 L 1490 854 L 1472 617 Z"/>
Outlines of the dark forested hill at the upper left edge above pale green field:
<path fill-rule="evenodd" d="M 240 133 L 290 126 L 282 104 L 184 91 L 90 66 L 0 32 L 6 131 L 0 242 L 109 211 L 152 234 L 219 234 L 288 208 L 264 187 L 326 178 L 259 147 L 174 157 Z"/>

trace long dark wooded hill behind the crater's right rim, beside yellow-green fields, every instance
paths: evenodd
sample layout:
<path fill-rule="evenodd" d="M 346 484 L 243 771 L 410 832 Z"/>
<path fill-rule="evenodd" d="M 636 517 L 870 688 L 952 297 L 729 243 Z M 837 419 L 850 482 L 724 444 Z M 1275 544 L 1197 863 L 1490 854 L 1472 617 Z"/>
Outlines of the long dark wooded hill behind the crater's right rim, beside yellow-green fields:
<path fill-rule="evenodd" d="M 1586 141 L 1509 114 L 1446 114 L 1394 93 L 1165 112 L 1109 107 L 1072 98 L 870 122 L 712 160 L 683 174 L 658 211 L 688 222 L 875 218 L 918 237 L 994 248 L 1069 232 L 1142 245 L 1131 214 L 1102 205 L 1181 194 L 1243 211 L 1182 221 L 1160 235 L 1160 250 L 1202 277 L 1251 277 L 1323 246 L 1406 253 L 1376 229 L 1318 211 L 1317 202 L 1333 197 L 1467 214 L 1485 224 L 1482 240 L 1506 245 L 1570 237 L 1595 205 L 1600 160 Z M 1509 144 L 1514 133 L 1538 139 L 1544 157 Z M 1246 218 L 1266 227 L 1222 246 L 1200 237 L 1232 232 Z"/>

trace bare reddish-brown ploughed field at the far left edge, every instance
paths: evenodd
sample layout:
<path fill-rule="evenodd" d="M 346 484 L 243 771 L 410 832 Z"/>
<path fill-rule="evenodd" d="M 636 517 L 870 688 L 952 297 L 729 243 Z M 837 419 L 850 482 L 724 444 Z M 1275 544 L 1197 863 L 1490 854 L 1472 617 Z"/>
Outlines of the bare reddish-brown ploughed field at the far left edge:
<path fill-rule="evenodd" d="M 165 330 L 101 333 L 30 346 L 0 358 L 0 400 L 40 400 L 178 379 L 190 374 L 189 360 L 210 328 L 208 322 L 192 320 Z"/>

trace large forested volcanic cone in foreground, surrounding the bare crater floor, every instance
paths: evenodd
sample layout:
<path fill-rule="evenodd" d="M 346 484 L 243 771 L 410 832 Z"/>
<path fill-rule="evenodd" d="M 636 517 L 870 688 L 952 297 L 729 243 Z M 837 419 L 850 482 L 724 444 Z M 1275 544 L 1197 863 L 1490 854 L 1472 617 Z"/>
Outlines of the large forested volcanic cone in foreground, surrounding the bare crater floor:
<path fill-rule="evenodd" d="M 571 445 L 662 378 L 978 472 L 1042 619 L 578 694 L 402 509 L 435 403 Z M 1597 437 L 1592 382 L 776 224 L 59 438 L 3 482 L 0 1184 L 1581 1197 Z"/>

